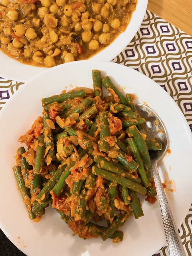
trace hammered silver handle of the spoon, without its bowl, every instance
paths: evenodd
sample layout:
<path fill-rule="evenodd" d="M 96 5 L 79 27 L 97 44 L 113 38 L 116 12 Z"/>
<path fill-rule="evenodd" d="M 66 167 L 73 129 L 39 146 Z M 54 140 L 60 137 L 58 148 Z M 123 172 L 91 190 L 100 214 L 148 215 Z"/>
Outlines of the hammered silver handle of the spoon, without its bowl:
<path fill-rule="evenodd" d="M 166 194 L 164 192 L 164 188 L 160 180 L 157 161 L 152 164 L 152 174 L 154 177 L 158 201 L 161 208 L 161 215 L 168 246 L 168 254 L 169 256 L 186 256 Z"/>

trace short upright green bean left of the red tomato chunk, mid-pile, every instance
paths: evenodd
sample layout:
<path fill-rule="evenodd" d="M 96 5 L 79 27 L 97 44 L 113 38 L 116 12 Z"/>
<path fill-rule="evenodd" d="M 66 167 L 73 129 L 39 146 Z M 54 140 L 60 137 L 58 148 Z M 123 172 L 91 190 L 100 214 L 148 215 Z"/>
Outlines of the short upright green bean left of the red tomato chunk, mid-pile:
<path fill-rule="evenodd" d="M 108 112 L 102 111 L 99 113 L 99 118 L 97 121 L 97 127 L 99 129 L 99 150 L 103 152 L 107 152 L 109 150 L 109 144 L 105 141 L 105 138 L 110 135 L 109 132 L 109 124 L 108 124 Z"/>

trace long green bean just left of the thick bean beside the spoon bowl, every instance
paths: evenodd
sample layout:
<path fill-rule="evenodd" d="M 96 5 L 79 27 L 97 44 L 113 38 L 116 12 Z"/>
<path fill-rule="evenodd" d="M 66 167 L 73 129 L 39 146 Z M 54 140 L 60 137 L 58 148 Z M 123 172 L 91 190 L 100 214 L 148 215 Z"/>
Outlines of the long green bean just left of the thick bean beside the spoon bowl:
<path fill-rule="evenodd" d="M 138 147 L 136 145 L 136 142 L 135 142 L 134 138 L 128 138 L 127 142 L 128 142 L 129 148 L 134 156 L 135 161 L 139 164 L 138 172 L 140 174 L 140 177 L 142 178 L 143 184 L 145 187 L 148 187 L 149 181 L 148 181 L 146 171 L 144 169 L 143 162 L 140 157 L 140 153 L 139 153 Z"/>

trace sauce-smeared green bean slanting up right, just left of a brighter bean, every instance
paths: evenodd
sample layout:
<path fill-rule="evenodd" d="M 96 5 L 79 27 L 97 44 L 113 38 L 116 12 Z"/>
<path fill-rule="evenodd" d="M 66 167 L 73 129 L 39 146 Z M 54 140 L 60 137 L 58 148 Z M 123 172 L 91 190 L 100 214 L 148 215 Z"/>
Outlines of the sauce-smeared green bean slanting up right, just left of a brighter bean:
<path fill-rule="evenodd" d="M 58 168 L 55 172 L 55 174 L 48 180 L 46 185 L 42 188 L 42 190 L 39 192 L 36 200 L 40 203 L 43 204 L 45 200 L 48 198 L 50 191 L 52 188 L 55 186 L 55 184 L 58 182 L 62 172 L 65 170 L 66 165 L 61 166 Z"/>

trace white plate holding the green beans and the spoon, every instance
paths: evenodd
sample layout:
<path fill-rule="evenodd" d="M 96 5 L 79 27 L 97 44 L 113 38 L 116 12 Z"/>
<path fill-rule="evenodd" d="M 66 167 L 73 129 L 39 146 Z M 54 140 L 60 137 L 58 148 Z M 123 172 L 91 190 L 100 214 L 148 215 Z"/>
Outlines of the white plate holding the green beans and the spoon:
<path fill-rule="evenodd" d="M 119 244 L 110 239 L 103 242 L 100 238 L 83 240 L 73 236 L 51 207 L 39 223 L 28 218 L 12 171 L 16 150 L 21 146 L 18 138 L 42 114 L 42 98 L 70 90 L 71 85 L 92 87 L 92 69 L 102 70 L 102 76 L 110 76 L 124 92 L 134 93 L 138 97 L 136 103 L 148 104 L 164 122 L 171 153 L 160 162 L 159 171 L 162 182 L 167 180 L 168 188 L 174 186 L 174 192 L 166 192 L 178 227 L 192 202 L 192 134 L 167 92 L 141 73 L 113 62 L 83 60 L 62 64 L 20 87 L 0 111 L 0 227 L 28 256 L 151 256 L 166 244 L 158 202 L 150 204 L 143 197 L 144 217 L 131 217 L 126 222 L 122 228 L 124 239 Z"/>

